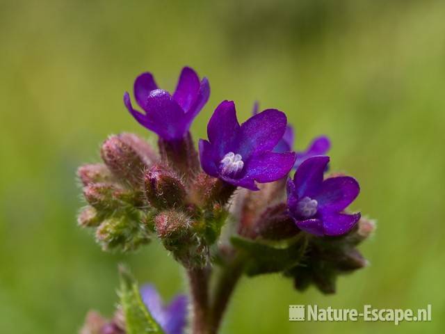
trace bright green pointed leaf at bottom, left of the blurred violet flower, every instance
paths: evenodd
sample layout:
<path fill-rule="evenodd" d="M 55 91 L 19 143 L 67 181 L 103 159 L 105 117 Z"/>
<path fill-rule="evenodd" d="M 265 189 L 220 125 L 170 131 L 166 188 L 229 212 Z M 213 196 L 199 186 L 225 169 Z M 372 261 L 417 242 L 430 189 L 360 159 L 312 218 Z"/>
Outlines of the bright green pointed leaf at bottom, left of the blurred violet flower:
<path fill-rule="evenodd" d="M 120 303 L 124 311 L 127 334 L 164 334 L 142 301 L 136 280 L 120 265 Z"/>

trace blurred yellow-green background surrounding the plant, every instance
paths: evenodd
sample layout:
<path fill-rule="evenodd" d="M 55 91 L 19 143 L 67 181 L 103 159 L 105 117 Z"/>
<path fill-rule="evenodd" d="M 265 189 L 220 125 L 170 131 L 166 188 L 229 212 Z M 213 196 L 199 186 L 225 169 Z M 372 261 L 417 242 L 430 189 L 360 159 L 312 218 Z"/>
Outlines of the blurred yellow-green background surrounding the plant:
<path fill-rule="evenodd" d="M 76 333 L 90 308 L 111 315 L 117 264 L 165 298 L 183 273 L 159 244 L 103 253 L 76 226 L 76 167 L 108 134 L 154 138 L 122 104 L 149 70 L 174 89 L 183 65 L 241 120 L 254 100 L 285 111 L 297 148 L 332 138 L 332 170 L 355 175 L 354 203 L 378 219 L 371 266 L 338 294 L 298 294 L 280 276 L 245 278 L 223 333 L 444 333 L 444 1 L 1 1 L 0 331 Z M 430 323 L 295 323 L 289 304 L 423 308 Z"/>

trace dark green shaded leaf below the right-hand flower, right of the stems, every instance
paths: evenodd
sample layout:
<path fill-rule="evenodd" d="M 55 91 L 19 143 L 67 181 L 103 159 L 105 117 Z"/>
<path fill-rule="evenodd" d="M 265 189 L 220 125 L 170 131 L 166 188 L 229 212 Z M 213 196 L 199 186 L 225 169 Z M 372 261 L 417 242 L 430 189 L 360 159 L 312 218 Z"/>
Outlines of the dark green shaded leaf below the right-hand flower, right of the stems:
<path fill-rule="evenodd" d="M 248 276 L 277 273 L 296 266 L 307 246 L 305 237 L 296 239 L 293 244 L 285 246 L 266 244 L 242 237 L 232 237 L 231 241 L 245 257 L 245 273 Z"/>

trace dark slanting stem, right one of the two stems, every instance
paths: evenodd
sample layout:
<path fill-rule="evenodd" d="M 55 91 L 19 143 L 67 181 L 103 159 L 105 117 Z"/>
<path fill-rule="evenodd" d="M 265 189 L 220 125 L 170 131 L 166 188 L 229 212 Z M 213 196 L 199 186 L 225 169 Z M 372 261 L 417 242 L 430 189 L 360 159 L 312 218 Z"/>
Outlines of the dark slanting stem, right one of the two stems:
<path fill-rule="evenodd" d="M 218 333 L 230 297 L 243 273 L 243 265 L 243 258 L 236 256 L 218 278 L 211 304 L 210 330 L 212 334 Z"/>

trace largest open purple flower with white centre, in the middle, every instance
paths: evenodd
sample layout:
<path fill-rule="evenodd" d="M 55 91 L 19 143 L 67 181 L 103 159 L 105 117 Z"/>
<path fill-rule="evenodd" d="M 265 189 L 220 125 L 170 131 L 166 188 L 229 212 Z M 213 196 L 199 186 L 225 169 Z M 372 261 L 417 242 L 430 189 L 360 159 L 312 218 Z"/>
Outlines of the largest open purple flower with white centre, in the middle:
<path fill-rule="evenodd" d="M 283 137 L 286 121 L 281 111 L 267 109 L 239 125 L 234 102 L 221 102 L 207 125 L 209 141 L 200 140 L 202 169 L 250 190 L 259 190 L 255 182 L 280 180 L 296 159 L 294 152 L 272 152 Z"/>

